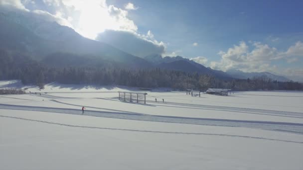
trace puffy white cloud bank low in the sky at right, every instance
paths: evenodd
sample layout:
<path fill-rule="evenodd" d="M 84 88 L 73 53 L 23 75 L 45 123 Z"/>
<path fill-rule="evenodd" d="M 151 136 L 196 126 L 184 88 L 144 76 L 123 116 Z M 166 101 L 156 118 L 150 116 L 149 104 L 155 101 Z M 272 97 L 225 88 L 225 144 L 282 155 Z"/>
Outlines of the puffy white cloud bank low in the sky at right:
<path fill-rule="evenodd" d="M 238 69 L 244 72 L 278 72 L 279 69 L 271 63 L 275 60 L 286 60 L 287 62 L 295 62 L 297 58 L 291 56 L 303 56 L 303 43 L 298 41 L 291 46 L 286 52 L 278 51 L 275 47 L 260 42 L 252 42 L 252 50 L 249 46 L 241 41 L 239 45 L 229 48 L 227 52 L 220 51 L 221 56 L 219 62 L 211 62 L 212 69 L 227 71 L 229 69 Z"/>

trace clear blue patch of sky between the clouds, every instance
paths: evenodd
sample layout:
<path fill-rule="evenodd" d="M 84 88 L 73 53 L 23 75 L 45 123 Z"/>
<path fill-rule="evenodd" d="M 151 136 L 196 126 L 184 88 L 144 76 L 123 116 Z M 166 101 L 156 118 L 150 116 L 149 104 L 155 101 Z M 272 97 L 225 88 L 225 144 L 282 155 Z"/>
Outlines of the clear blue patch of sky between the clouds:
<path fill-rule="evenodd" d="M 128 0 L 109 0 L 123 7 Z M 139 31 L 152 30 L 185 57 L 210 56 L 240 41 L 260 41 L 286 50 L 303 37 L 303 1 L 133 0 L 129 16 Z M 298 36 L 299 33 L 299 36 Z M 281 41 L 273 42 L 273 39 Z M 286 42 L 285 42 L 286 41 Z M 197 48 L 192 43 L 197 42 Z"/>

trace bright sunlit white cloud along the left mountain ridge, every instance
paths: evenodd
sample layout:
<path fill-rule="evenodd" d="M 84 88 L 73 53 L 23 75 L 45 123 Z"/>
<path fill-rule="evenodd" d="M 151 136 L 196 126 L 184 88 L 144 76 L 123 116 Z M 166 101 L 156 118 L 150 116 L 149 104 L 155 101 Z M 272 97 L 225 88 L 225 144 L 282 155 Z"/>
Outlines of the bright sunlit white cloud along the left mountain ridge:
<path fill-rule="evenodd" d="M 56 21 L 61 25 L 69 26 L 81 35 L 95 39 L 105 30 L 128 31 L 136 38 L 148 41 L 157 47 L 166 45 L 157 41 L 149 30 L 147 34 L 138 33 L 135 22 L 129 18 L 128 11 L 114 5 L 108 5 L 106 0 L 41 0 L 47 8 L 41 10 L 32 0 L 0 0 L 1 5 L 27 10 L 24 7 L 32 5 L 32 13 L 47 20 Z M 137 9 L 133 3 L 126 5 L 127 9 Z M 165 51 L 165 50 L 164 50 Z"/>

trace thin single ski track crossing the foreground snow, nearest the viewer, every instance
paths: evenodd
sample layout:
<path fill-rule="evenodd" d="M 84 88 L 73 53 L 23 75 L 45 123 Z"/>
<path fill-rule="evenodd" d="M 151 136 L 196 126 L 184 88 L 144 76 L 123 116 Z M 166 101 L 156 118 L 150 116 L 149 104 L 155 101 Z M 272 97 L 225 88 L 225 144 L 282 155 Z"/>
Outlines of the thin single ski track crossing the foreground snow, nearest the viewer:
<path fill-rule="evenodd" d="M 21 117 L 14 117 L 14 116 L 3 116 L 3 115 L 0 115 L 0 117 L 13 118 L 13 119 L 20 119 L 20 120 L 27 120 L 27 121 L 34 121 L 34 122 L 40 122 L 40 123 L 55 124 L 55 125 L 68 126 L 68 127 L 77 127 L 77 128 L 104 129 L 104 130 L 120 130 L 120 131 L 146 132 L 146 133 L 164 133 L 164 134 L 185 134 L 185 135 L 227 136 L 227 137 L 262 139 L 262 140 L 271 140 L 271 141 L 291 142 L 291 143 L 303 144 L 303 142 L 297 142 L 297 141 L 280 140 L 280 139 L 271 139 L 271 138 L 262 138 L 262 137 L 253 137 L 253 136 L 242 136 L 242 135 L 227 135 L 227 134 L 215 134 L 215 133 L 192 133 L 192 132 L 168 132 L 168 131 L 151 131 L 151 130 L 121 129 L 121 128 L 107 128 L 107 127 L 94 127 L 94 126 L 79 126 L 79 125 L 70 125 L 70 124 L 49 122 L 49 121 L 43 121 L 43 120 L 26 119 L 26 118 L 21 118 Z"/>

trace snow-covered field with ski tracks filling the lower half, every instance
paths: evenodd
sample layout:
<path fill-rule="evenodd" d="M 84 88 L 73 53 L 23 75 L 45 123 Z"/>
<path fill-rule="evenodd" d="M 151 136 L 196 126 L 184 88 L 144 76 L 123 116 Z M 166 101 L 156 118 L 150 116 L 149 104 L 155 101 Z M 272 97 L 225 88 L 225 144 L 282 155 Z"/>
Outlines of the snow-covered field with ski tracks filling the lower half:
<path fill-rule="evenodd" d="M 26 87 L 0 95 L 1 170 L 303 170 L 300 91 Z M 117 91 L 147 92 L 147 104 Z"/>

